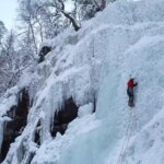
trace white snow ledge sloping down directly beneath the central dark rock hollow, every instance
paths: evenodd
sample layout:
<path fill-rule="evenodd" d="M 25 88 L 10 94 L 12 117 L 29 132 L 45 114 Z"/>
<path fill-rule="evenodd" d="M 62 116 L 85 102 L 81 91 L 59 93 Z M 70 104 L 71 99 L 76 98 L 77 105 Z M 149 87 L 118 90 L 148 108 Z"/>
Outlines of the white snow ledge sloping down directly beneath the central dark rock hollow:
<path fill-rule="evenodd" d="M 87 128 L 86 128 L 87 126 Z M 46 140 L 38 150 L 32 164 L 36 163 L 57 163 L 62 152 L 73 143 L 77 138 L 81 138 L 85 133 L 98 128 L 101 122 L 95 120 L 95 115 L 87 115 L 82 118 L 74 119 L 68 127 L 65 136 L 57 134 L 54 140 Z M 81 127 L 81 129 L 79 129 Z M 49 153 L 56 152 L 56 153 Z M 62 159 L 62 157 L 61 157 Z"/>

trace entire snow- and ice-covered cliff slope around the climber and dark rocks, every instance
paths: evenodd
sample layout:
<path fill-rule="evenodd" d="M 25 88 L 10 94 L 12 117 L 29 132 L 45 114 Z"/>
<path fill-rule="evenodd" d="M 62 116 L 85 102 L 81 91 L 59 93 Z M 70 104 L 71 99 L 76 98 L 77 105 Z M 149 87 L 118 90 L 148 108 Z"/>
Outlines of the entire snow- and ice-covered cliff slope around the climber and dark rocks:
<path fill-rule="evenodd" d="M 3 163 L 28 163 L 34 152 L 32 164 L 163 164 L 163 30 L 164 0 L 119 0 L 80 32 L 68 30 L 45 43 L 54 50 L 36 68 L 36 83 L 26 84 L 34 98 L 28 124 Z M 127 106 L 129 74 L 139 82 L 133 110 Z M 91 114 L 94 95 L 96 113 Z M 51 138 L 54 113 L 71 96 L 80 106 L 79 117 L 66 134 Z M 0 104 L 3 113 L 10 108 L 8 99 Z M 38 120 L 39 148 L 33 142 Z"/>

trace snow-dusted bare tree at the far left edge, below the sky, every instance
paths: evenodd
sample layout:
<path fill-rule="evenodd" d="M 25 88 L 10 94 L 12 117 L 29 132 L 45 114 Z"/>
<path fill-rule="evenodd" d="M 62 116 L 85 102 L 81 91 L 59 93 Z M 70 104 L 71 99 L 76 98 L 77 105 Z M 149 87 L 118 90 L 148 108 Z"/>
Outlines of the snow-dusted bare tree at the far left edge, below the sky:
<path fill-rule="evenodd" d="M 31 62 L 34 61 L 32 56 L 33 51 L 28 49 L 31 44 L 25 43 L 20 35 L 11 31 L 7 34 L 3 42 L 0 45 L 0 95 L 15 85 L 22 71 L 31 67 Z"/>

